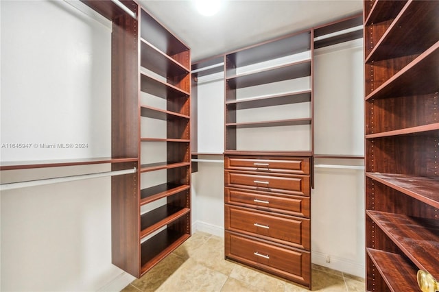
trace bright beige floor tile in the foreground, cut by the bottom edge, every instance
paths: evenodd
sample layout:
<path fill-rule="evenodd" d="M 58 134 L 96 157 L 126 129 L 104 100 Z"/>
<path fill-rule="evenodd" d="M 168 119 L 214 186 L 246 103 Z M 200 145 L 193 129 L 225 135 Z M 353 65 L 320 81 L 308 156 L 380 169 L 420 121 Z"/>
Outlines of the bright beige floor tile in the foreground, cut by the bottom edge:
<path fill-rule="evenodd" d="M 227 276 L 189 258 L 157 291 L 221 291 Z"/>

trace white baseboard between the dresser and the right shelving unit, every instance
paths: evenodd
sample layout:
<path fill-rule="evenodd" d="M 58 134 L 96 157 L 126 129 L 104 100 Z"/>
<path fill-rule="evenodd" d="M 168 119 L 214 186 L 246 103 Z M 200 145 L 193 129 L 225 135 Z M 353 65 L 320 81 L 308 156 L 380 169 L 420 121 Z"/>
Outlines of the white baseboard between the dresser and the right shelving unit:
<path fill-rule="evenodd" d="M 331 255 L 331 263 L 327 263 L 327 256 L 322 252 L 311 252 L 311 262 L 316 265 L 335 269 L 344 273 L 364 278 L 366 270 L 364 265 L 355 263 L 347 258 L 339 258 Z"/>

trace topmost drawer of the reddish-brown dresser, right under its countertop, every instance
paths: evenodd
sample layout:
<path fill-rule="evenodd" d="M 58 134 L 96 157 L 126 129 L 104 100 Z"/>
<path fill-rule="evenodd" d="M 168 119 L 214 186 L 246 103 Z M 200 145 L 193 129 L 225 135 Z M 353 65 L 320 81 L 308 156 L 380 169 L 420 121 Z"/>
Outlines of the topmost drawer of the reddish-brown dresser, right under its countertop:
<path fill-rule="evenodd" d="M 226 156 L 225 169 L 309 174 L 308 157 Z"/>

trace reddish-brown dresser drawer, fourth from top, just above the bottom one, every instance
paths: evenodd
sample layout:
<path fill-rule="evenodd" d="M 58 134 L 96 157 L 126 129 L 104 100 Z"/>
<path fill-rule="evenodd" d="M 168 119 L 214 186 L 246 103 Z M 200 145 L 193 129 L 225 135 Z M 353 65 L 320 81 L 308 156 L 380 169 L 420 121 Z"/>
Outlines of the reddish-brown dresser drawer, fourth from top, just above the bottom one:
<path fill-rule="evenodd" d="M 226 230 L 258 236 L 285 245 L 311 249 L 309 219 L 236 206 L 225 206 Z"/>

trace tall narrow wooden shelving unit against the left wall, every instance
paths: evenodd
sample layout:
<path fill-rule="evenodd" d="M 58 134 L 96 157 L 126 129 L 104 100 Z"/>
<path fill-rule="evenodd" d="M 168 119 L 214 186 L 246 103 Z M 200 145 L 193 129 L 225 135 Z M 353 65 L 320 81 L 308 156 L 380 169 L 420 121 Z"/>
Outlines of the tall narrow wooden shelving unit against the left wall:
<path fill-rule="evenodd" d="M 191 236 L 191 53 L 135 1 L 122 1 L 132 15 L 84 3 L 113 21 L 110 162 L 138 171 L 112 178 L 112 263 L 139 278 Z M 154 172 L 161 180 L 143 186 Z"/>

